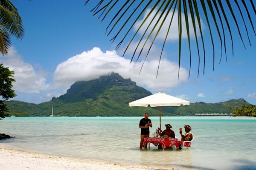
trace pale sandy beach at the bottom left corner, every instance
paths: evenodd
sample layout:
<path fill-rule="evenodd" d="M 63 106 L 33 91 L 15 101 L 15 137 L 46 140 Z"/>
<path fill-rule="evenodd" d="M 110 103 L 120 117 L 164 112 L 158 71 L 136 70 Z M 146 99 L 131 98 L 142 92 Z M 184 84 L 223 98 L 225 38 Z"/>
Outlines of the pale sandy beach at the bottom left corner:
<path fill-rule="evenodd" d="M 0 144 L 0 170 L 162 170 L 15 150 Z M 174 170 L 174 169 L 172 169 Z"/>

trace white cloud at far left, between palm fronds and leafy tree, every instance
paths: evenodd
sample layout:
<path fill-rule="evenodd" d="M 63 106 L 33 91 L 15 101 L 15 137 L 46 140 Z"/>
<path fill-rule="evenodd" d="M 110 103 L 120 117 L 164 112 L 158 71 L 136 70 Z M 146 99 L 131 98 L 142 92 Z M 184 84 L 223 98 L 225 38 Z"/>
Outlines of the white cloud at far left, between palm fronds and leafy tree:
<path fill-rule="evenodd" d="M 15 72 L 16 82 L 12 84 L 16 92 L 40 93 L 49 87 L 44 77 L 46 73 L 35 71 L 32 65 L 23 61 L 14 47 L 9 48 L 7 56 L 0 56 L 0 61 L 5 67 L 9 67 L 11 71 Z"/>

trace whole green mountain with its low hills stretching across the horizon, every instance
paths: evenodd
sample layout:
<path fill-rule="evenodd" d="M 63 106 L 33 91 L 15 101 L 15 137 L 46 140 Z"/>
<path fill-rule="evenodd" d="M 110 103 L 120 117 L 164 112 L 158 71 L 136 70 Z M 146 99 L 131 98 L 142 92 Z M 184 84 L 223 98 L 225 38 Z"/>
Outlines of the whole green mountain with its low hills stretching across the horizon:
<path fill-rule="evenodd" d="M 143 116 L 149 112 L 158 116 L 158 107 L 129 107 L 128 103 L 151 95 L 150 91 L 124 79 L 117 73 L 90 81 L 79 81 L 71 85 L 66 94 L 53 97 L 49 102 L 32 104 L 7 101 L 9 115 L 49 116 L 52 106 L 55 116 Z M 163 116 L 195 115 L 196 113 L 231 113 L 227 107 L 249 104 L 244 99 L 219 103 L 191 103 L 189 106 L 161 107 Z"/>

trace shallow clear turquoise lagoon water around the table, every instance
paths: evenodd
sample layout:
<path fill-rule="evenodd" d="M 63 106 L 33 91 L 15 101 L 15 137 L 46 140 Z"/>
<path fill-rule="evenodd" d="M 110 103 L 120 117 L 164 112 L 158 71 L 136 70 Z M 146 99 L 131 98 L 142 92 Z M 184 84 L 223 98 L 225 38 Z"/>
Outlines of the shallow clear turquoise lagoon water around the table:
<path fill-rule="evenodd" d="M 79 159 L 180 170 L 256 170 L 256 118 L 162 117 L 180 139 L 188 124 L 195 136 L 191 149 L 139 149 L 143 117 L 7 117 L 0 133 L 15 136 L 7 146 Z M 149 117 L 159 127 L 159 117 Z M 184 132 L 184 128 L 183 128 Z"/>

